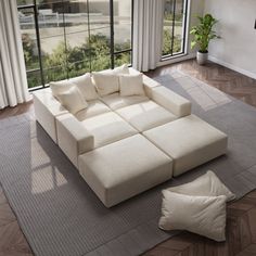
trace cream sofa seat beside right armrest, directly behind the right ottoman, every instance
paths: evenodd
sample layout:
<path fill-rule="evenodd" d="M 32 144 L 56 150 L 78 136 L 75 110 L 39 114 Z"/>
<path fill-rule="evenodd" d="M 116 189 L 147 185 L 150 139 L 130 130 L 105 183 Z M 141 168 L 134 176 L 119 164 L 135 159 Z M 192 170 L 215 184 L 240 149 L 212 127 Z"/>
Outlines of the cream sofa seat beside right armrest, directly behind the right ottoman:
<path fill-rule="evenodd" d="M 177 119 L 177 117 L 153 101 L 144 101 L 116 111 L 137 130 L 145 131 Z"/>

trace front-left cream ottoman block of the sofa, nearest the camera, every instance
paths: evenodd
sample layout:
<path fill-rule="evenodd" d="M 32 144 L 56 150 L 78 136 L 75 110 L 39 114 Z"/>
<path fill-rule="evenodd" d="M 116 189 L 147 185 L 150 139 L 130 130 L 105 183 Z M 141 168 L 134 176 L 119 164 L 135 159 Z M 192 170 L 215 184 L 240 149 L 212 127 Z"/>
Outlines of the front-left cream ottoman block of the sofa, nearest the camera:
<path fill-rule="evenodd" d="M 111 207 L 171 178 L 171 158 L 141 135 L 79 156 L 79 172 Z"/>

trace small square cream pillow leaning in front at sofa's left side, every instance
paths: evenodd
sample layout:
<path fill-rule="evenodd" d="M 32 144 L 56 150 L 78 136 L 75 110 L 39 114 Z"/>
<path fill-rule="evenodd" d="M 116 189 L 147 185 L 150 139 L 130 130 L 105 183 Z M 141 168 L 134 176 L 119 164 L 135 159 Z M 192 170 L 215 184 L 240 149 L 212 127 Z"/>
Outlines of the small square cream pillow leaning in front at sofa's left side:
<path fill-rule="evenodd" d="M 68 91 L 59 94 L 57 98 L 61 104 L 72 114 L 76 114 L 88 106 L 85 98 L 76 86 L 72 87 Z"/>

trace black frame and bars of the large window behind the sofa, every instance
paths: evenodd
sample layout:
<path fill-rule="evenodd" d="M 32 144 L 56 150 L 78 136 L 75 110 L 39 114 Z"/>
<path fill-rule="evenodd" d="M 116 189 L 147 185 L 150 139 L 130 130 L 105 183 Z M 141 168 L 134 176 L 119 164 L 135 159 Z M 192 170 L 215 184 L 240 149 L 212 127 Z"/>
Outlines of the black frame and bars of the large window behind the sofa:
<path fill-rule="evenodd" d="M 61 0 L 62 1 L 62 8 L 65 8 L 65 0 Z M 115 30 L 114 30 L 114 0 L 110 0 L 110 56 L 111 56 L 111 68 L 115 67 L 115 56 L 121 53 L 130 53 L 130 60 L 132 63 L 132 49 L 133 49 L 133 0 L 131 1 L 131 47 L 129 49 L 125 49 L 121 51 L 115 51 Z M 41 41 L 40 41 L 40 27 L 39 27 L 39 23 L 38 23 L 38 16 L 39 16 L 39 12 L 38 12 L 38 3 L 37 0 L 33 0 L 33 3 L 30 4 L 25 4 L 25 5 L 17 5 L 17 11 L 20 10 L 26 10 L 26 9 L 33 9 L 34 10 L 34 20 L 35 20 L 35 30 L 36 30 L 36 41 L 37 41 L 37 48 L 38 48 L 38 59 L 39 59 L 39 68 L 34 68 L 34 69 L 29 69 L 26 71 L 26 74 L 28 73 L 34 73 L 34 72 L 40 72 L 40 79 L 41 79 L 41 85 L 39 85 L 38 87 L 31 87 L 28 88 L 28 91 L 35 91 L 35 90 L 39 90 L 39 89 L 43 89 L 49 87 L 48 84 L 46 84 L 44 81 L 44 73 L 47 71 L 56 68 L 55 67 L 48 67 L 48 68 L 43 68 L 43 64 L 42 64 L 42 51 L 41 51 Z M 90 42 L 90 1 L 87 0 L 87 16 L 88 16 L 88 37 L 89 37 L 89 42 Z M 63 20 L 64 20 L 64 12 L 63 12 Z M 64 23 L 65 24 L 65 23 Z M 66 31 L 65 31 L 65 25 L 64 25 L 64 43 L 65 43 L 65 48 L 67 49 L 67 41 L 66 41 Z M 89 46 L 90 48 L 90 46 Z M 82 61 L 79 61 L 82 62 Z M 90 55 L 90 73 L 93 72 L 91 68 L 91 55 Z M 130 64 L 131 64 L 130 63 Z M 67 62 L 66 62 L 67 65 Z M 68 68 L 66 69 L 66 79 L 71 78 L 69 74 L 68 74 Z"/>

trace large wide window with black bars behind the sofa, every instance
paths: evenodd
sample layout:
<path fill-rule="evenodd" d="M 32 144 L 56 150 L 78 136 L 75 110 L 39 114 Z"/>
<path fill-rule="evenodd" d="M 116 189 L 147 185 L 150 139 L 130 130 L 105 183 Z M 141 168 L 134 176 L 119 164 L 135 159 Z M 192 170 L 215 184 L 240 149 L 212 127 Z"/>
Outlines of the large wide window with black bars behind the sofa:
<path fill-rule="evenodd" d="M 132 0 L 16 0 L 28 87 L 131 63 Z"/>

